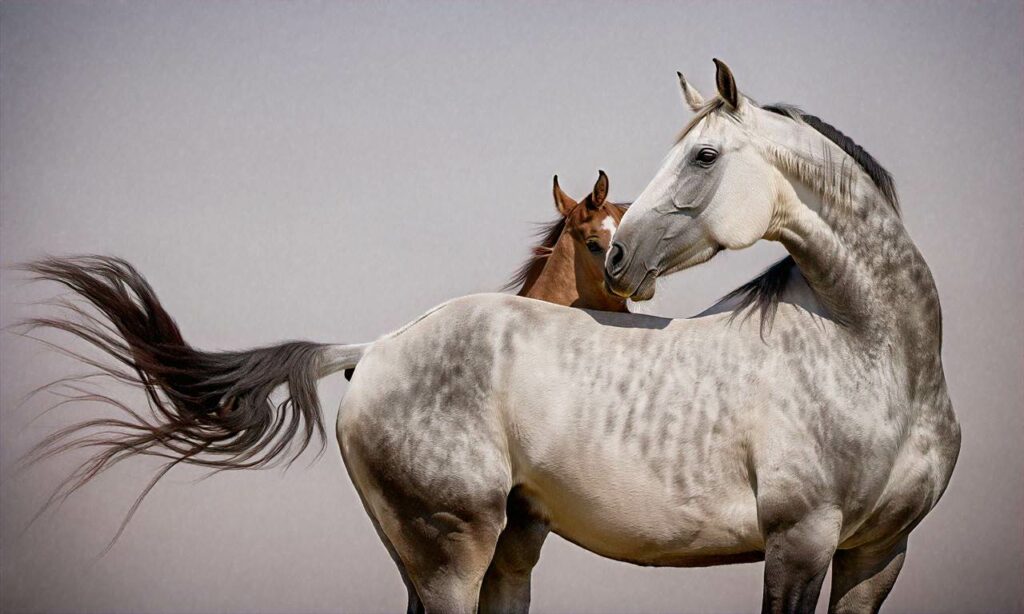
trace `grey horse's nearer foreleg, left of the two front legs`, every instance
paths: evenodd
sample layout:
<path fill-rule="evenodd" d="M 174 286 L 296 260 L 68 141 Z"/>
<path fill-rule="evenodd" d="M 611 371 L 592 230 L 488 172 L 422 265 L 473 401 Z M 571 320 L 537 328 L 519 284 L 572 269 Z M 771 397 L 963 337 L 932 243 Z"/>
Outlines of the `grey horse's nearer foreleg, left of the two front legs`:
<path fill-rule="evenodd" d="M 765 535 L 762 613 L 814 612 L 839 540 L 839 512 L 818 512 L 795 523 L 771 523 Z"/>

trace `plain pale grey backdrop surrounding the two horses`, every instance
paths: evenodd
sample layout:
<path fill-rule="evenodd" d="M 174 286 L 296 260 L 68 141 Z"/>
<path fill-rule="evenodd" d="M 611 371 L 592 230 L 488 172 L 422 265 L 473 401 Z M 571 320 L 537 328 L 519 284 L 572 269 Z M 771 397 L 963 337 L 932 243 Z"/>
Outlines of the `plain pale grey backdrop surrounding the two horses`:
<path fill-rule="evenodd" d="M 118 254 L 210 349 L 364 341 L 498 288 L 597 169 L 639 193 L 711 58 L 804 105 L 895 174 L 945 313 L 959 466 L 891 612 L 1022 608 L 1022 10 L 1007 3 L 4 3 L 0 260 Z M 645 311 L 690 315 L 778 254 L 724 254 Z M 2 272 L 2 324 L 51 296 Z M 18 400 L 70 361 L 2 336 L 4 611 L 373 612 L 401 582 L 328 443 L 287 473 L 179 471 L 97 558 L 155 465 L 125 464 L 26 530 L 75 457 Z M 328 422 L 344 392 L 322 387 Z M 538 612 L 740 612 L 761 565 L 643 569 L 552 537 Z"/>

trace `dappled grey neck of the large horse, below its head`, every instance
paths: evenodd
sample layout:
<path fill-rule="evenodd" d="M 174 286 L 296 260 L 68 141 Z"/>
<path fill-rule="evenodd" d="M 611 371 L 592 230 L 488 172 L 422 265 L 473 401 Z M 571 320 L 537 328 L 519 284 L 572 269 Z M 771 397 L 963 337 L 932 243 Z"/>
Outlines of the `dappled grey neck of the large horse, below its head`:
<path fill-rule="evenodd" d="M 795 189 L 796 202 L 782 206 L 777 217 L 784 220 L 769 232 L 838 320 L 876 341 L 937 352 L 941 312 L 928 265 L 898 212 L 866 177 L 849 189 L 842 203 Z"/>

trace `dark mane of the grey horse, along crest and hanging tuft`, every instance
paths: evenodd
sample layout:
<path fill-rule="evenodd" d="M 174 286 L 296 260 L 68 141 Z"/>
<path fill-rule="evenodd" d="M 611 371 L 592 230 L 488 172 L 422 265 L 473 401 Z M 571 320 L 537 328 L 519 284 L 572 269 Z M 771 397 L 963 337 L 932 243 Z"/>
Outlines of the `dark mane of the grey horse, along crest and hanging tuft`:
<path fill-rule="evenodd" d="M 708 105 L 711 106 L 710 104 Z M 717 107 L 716 107 L 717 108 Z M 886 203 L 892 207 L 896 215 L 900 214 L 899 199 L 896 194 L 896 183 L 892 174 L 885 169 L 873 156 L 864 150 L 849 136 L 843 134 L 838 128 L 826 123 L 816 116 L 804 113 L 800 107 L 793 104 L 776 103 L 762 106 L 761 108 L 776 115 L 791 118 L 794 121 L 806 124 L 816 130 L 819 134 L 836 143 L 843 149 L 858 166 L 867 174 L 874 183 L 874 186 L 882 193 Z M 709 113 L 712 109 L 709 109 Z M 705 114 L 707 115 L 707 113 Z M 702 118 L 701 118 L 702 119 Z M 689 131 L 690 126 L 687 126 Z M 684 133 L 686 132 L 684 131 Z M 718 304 L 725 301 L 736 300 L 735 314 L 739 314 L 748 308 L 757 309 L 761 313 L 761 337 L 771 331 L 772 322 L 775 319 L 775 312 L 778 311 L 778 304 L 782 298 L 782 293 L 792 278 L 794 267 L 797 266 L 792 256 L 786 256 L 775 264 L 768 267 L 754 279 L 743 283 L 736 290 L 722 297 Z M 799 270 L 799 269 L 798 269 Z"/>

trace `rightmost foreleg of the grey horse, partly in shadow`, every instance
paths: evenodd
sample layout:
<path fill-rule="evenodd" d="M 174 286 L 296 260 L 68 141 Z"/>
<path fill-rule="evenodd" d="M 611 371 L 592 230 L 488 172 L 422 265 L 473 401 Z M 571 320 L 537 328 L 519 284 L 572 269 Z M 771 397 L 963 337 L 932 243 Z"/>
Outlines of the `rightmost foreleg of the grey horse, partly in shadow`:
<path fill-rule="evenodd" d="M 885 545 L 839 551 L 833 558 L 828 611 L 878 612 L 906 558 L 906 535 Z"/>

